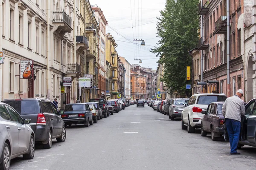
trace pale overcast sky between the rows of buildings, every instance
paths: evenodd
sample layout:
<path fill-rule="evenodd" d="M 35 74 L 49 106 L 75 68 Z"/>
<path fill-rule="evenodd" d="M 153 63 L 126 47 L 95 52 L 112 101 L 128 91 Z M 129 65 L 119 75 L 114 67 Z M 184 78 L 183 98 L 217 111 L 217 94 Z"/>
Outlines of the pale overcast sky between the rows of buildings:
<path fill-rule="evenodd" d="M 108 21 L 106 34 L 111 33 L 118 46 L 119 56 L 130 64 L 157 68 L 158 57 L 150 52 L 157 45 L 157 18 L 164 9 L 166 0 L 90 0 L 91 5 L 101 8 Z M 145 40 L 145 46 L 141 41 Z M 139 63 L 139 59 L 142 63 Z"/>

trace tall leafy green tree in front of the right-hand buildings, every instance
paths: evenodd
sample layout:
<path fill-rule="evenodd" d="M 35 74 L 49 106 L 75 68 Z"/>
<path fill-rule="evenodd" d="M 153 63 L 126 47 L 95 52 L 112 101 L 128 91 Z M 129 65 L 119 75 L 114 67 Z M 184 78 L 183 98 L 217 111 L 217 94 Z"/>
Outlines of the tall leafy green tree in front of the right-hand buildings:
<path fill-rule="evenodd" d="M 165 9 L 160 11 L 157 18 L 157 34 L 160 37 L 158 47 L 151 49 L 159 63 L 163 64 L 164 75 L 161 79 L 171 93 L 180 94 L 186 90 L 186 66 L 191 65 L 192 59 L 188 51 L 198 43 L 198 0 L 166 0 Z"/>

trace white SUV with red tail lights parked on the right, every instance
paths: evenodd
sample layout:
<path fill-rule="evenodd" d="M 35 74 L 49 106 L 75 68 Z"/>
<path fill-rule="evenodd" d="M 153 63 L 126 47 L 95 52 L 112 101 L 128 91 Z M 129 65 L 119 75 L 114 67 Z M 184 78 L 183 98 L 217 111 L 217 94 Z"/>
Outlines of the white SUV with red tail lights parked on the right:
<path fill-rule="evenodd" d="M 194 94 L 189 102 L 184 104 L 186 108 L 181 114 L 181 129 L 187 129 L 188 133 L 195 133 L 196 128 L 201 128 L 201 111 L 206 111 L 211 102 L 224 102 L 225 94 Z"/>

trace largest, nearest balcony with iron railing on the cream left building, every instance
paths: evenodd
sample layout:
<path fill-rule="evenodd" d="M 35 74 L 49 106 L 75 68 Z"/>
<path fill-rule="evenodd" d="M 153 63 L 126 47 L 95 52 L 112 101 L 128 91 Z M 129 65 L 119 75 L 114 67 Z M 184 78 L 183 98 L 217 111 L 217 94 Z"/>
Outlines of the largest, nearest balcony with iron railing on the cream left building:
<path fill-rule="evenodd" d="M 54 24 L 54 31 L 61 34 L 61 36 L 73 30 L 71 28 L 71 19 L 64 11 L 53 11 L 52 23 Z"/>

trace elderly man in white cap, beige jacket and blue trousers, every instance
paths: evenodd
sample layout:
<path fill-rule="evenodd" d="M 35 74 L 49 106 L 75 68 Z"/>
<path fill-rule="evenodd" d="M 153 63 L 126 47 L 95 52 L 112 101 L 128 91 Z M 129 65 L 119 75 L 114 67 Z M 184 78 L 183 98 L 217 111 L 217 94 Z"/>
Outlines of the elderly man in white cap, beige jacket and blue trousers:
<path fill-rule="evenodd" d="M 236 91 L 236 95 L 226 99 L 222 106 L 222 114 L 225 117 L 225 124 L 230 140 L 230 155 L 239 155 L 237 145 L 239 142 L 241 129 L 241 116 L 244 116 L 245 108 L 244 101 L 241 97 L 244 96 L 242 89 Z"/>

